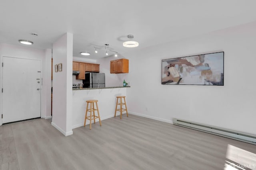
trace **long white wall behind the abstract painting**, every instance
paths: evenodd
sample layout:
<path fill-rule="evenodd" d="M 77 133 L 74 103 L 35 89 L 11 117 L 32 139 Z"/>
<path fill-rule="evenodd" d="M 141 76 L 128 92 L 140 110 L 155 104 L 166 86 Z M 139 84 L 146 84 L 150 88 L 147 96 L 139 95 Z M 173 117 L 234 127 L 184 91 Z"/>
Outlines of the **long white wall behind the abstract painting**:
<path fill-rule="evenodd" d="M 256 22 L 124 55 L 130 62 L 128 111 L 170 123 L 175 117 L 256 135 L 255 30 Z M 162 59 L 219 51 L 224 51 L 224 86 L 161 84 Z"/>

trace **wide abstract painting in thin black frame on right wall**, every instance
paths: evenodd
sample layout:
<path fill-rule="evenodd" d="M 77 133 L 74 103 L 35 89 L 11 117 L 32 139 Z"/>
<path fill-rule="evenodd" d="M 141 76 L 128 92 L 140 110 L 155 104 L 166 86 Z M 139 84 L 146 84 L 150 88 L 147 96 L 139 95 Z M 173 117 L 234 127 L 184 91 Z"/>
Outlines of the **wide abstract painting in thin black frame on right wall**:
<path fill-rule="evenodd" d="M 224 52 L 162 60 L 162 84 L 224 86 Z"/>

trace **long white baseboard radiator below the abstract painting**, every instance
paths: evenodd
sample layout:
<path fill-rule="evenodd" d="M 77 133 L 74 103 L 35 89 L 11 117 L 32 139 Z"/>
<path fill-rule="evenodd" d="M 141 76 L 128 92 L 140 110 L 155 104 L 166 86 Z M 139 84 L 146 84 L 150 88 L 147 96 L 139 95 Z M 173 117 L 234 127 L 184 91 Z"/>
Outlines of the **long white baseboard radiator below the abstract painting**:
<path fill-rule="evenodd" d="M 204 124 L 201 124 L 201 123 L 195 123 L 195 122 L 186 121 L 186 120 L 182 120 L 182 119 L 176 119 L 176 118 L 173 118 L 172 122 L 173 122 L 174 125 L 187 127 L 187 128 L 190 128 L 190 129 L 195 129 L 195 130 L 198 130 L 198 131 L 211 133 L 211 134 L 214 134 L 214 135 L 227 137 L 227 138 L 230 138 L 230 139 L 235 139 L 235 140 L 238 140 L 238 141 L 243 141 L 243 142 L 246 142 L 246 143 L 251 143 L 251 144 L 256 145 L 256 136 L 255 135 L 241 133 L 241 132 L 233 131 L 233 130 L 230 130 L 230 129 L 222 129 L 220 127 L 204 125 Z"/>

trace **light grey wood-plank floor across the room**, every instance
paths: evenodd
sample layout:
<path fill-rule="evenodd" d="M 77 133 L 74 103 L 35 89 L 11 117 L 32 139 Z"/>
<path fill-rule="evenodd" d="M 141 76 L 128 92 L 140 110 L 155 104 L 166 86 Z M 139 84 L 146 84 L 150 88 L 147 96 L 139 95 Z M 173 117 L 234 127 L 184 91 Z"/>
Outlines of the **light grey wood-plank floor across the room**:
<path fill-rule="evenodd" d="M 0 126 L 0 169 L 223 170 L 228 144 L 256 153 L 252 144 L 131 114 L 73 133 L 45 119 Z"/>

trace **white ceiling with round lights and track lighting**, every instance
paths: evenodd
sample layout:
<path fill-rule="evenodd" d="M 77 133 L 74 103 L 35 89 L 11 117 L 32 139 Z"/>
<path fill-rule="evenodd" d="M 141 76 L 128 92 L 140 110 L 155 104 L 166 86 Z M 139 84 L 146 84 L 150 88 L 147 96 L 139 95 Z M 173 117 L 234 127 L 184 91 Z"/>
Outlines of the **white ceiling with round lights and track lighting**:
<path fill-rule="evenodd" d="M 73 56 L 99 59 L 95 47 L 121 55 L 256 20 L 256 0 L 1 0 L 0 43 L 52 48 L 64 33 L 73 33 Z M 30 35 L 38 33 L 38 37 Z M 122 46 L 128 34 L 139 47 Z M 114 54 L 114 53 L 110 53 Z"/>

